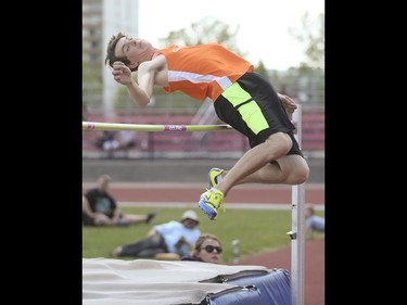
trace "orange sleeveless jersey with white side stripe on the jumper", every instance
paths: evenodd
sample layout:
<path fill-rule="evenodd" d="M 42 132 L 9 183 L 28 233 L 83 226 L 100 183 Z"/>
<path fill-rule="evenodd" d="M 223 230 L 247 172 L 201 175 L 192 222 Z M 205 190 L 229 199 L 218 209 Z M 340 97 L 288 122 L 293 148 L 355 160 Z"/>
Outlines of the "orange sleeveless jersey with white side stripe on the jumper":
<path fill-rule="evenodd" d="M 157 51 L 168 65 L 167 93 L 181 91 L 187 96 L 213 102 L 253 65 L 216 42 L 193 47 L 170 46 Z"/>

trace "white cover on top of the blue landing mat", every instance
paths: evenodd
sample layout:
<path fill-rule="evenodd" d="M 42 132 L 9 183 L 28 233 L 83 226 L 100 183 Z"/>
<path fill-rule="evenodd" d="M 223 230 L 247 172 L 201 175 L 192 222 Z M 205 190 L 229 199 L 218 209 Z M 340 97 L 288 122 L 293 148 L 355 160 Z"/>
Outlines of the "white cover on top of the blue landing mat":
<path fill-rule="evenodd" d="M 190 260 L 82 258 L 82 304 L 200 304 L 208 293 L 236 288 L 200 281 L 246 270 L 268 269 Z"/>

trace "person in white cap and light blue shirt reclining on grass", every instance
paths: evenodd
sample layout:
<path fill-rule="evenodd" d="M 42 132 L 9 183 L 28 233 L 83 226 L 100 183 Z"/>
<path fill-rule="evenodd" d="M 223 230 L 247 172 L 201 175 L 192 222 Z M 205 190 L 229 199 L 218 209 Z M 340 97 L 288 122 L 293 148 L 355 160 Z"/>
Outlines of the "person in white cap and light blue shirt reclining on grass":
<path fill-rule="evenodd" d="M 171 255 L 180 258 L 189 255 L 196 240 L 201 236 L 198 228 L 200 219 L 192 209 L 186 211 L 181 220 L 170 220 L 165 224 L 154 226 L 144 239 L 133 243 L 117 246 L 110 253 L 113 257 L 131 256 L 139 258 L 151 258 L 160 254 Z M 175 258 L 171 258 L 175 259 Z"/>

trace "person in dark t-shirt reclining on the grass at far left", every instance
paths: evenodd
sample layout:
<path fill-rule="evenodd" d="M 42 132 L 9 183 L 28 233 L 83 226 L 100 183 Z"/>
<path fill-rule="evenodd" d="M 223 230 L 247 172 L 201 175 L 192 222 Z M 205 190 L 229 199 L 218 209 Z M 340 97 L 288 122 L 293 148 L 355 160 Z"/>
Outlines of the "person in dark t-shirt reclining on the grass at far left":
<path fill-rule="evenodd" d="M 147 215 L 123 214 L 116 200 L 109 193 L 111 177 L 102 175 L 98 178 L 98 187 L 88 190 L 82 195 L 84 226 L 127 226 L 148 224 L 156 213 Z"/>

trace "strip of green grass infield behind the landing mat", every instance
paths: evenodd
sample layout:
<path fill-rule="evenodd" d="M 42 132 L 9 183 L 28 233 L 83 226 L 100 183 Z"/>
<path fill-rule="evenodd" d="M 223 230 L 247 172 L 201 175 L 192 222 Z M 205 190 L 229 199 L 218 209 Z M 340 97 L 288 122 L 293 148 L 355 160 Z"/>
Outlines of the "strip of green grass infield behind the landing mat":
<path fill-rule="evenodd" d="M 179 220 L 185 207 L 123 207 L 124 213 L 145 214 L 158 211 L 153 225 Z M 209 220 L 201 209 L 192 208 L 201 219 L 199 226 L 201 232 L 216 234 L 224 247 L 222 258 L 225 263 L 232 260 L 231 242 L 240 240 L 241 257 L 266 251 L 289 246 L 291 240 L 287 234 L 291 231 L 291 209 L 238 209 L 227 208 L 226 214 L 220 212 L 217 220 Z M 325 216 L 323 212 L 317 212 Z M 109 253 L 116 246 L 131 243 L 145 237 L 151 229 L 148 225 L 129 227 L 84 227 L 82 228 L 82 257 L 109 257 Z M 314 239 L 322 238 L 321 233 L 314 233 Z M 123 258 L 131 259 L 131 258 Z"/>

